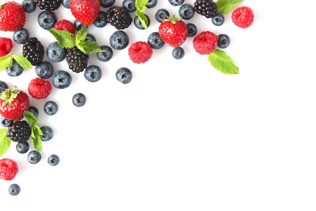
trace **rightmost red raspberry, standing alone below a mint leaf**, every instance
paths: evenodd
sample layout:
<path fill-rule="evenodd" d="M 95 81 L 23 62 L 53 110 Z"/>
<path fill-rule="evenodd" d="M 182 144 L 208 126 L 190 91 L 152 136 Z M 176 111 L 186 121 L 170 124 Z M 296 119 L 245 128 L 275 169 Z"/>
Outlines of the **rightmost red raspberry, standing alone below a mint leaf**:
<path fill-rule="evenodd" d="M 240 28 L 248 28 L 253 22 L 253 12 L 249 7 L 240 7 L 232 13 L 233 23 Z"/>

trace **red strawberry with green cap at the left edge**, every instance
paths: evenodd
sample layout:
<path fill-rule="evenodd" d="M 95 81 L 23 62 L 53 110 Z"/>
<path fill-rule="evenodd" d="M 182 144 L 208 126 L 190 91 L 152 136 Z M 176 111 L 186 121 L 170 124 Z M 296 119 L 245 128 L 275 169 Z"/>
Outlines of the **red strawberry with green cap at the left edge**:
<path fill-rule="evenodd" d="M 29 109 L 30 100 L 28 95 L 13 87 L 0 93 L 0 114 L 6 119 L 21 120 L 23 112 Z"/>

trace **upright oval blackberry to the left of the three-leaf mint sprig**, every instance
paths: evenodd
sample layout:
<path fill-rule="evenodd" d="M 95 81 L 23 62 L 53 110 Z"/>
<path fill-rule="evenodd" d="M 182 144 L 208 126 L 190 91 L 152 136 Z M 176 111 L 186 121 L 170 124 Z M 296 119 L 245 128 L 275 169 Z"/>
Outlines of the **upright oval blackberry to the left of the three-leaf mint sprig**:
<path fill-rule="evenodd" d="M 23 56 L 31 62 L 33 66 L 43 61 L 44 47 L 36 37 L 30 37 L 23 44 Z"/>

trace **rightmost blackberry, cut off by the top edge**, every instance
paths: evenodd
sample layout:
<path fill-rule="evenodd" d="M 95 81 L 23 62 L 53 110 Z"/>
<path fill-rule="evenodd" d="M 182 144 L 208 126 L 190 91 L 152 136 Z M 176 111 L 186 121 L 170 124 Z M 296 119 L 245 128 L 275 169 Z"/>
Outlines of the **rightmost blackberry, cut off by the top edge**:
<path fill-rule="evenodd" d="M 201 14 L 206 18 L 213 18 L 217 15 L 216 3 L 212 0 L 196 0 L 194 3 L 194 10 L 196 13 Z"/>

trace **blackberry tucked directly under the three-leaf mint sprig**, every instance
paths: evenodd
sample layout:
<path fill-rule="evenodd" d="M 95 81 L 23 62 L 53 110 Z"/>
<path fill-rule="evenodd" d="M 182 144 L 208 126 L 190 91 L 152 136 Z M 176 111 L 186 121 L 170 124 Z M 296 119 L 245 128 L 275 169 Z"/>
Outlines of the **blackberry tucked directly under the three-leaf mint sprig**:
<path fill-rule="evenodd" d="M 89 55 L 76 46 L 67 50 L 66 61 L 73 72 L 82 72 L 88 66 Z"/>

